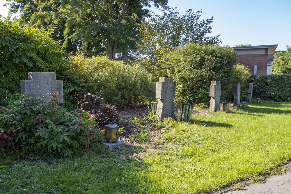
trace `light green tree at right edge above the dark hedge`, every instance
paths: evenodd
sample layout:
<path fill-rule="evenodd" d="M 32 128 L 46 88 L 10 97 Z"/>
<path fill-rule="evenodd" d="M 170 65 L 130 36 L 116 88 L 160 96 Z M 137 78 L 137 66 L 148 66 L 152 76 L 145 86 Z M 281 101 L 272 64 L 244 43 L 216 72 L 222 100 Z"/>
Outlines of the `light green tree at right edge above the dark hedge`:
<path fill-rule="evenodd" d="M 287 45 L 287 51 L 274 53 L 270 69 L 274 74 L 291 74 L 291 47 Z"/>

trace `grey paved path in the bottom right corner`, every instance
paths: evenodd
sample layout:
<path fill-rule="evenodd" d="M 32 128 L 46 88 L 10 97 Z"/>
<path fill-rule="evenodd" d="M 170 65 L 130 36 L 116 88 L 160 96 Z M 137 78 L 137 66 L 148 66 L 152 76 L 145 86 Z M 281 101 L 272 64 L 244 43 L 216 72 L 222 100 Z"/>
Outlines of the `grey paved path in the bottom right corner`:
<path fill-rule="evenodd" d="M 284 175 L 270 177 L 266 183 L 251 184 L 239 191 L 226 192 L 225 194 L 291 194 L 291 164 Z"/>

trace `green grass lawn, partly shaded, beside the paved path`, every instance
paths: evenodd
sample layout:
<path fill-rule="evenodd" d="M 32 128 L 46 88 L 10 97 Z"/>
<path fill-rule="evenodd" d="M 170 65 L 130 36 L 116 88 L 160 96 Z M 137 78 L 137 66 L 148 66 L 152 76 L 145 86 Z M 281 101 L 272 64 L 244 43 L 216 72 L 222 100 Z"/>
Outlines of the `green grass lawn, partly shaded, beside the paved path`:
<path fill-rule="evenodd" d="M 0 193 L 199 193 L 260 175 L 291 158 L 291 103 L 261 100 L 230 113 L 197 115 L 129 148 L 73 158 L 0 158 Z M 52 162 L 48 162 L 52 161 Z"/>

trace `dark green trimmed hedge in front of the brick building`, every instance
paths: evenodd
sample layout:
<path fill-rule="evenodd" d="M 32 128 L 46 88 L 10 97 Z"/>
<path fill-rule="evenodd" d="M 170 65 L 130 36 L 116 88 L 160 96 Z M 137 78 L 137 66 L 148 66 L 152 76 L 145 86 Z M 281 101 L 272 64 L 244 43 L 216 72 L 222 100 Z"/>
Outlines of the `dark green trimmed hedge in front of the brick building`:
<path fill-rule="evenodd" d="M 252 75 L 250 83 L 261 99 L 291 102 L 291 75 Z"/>

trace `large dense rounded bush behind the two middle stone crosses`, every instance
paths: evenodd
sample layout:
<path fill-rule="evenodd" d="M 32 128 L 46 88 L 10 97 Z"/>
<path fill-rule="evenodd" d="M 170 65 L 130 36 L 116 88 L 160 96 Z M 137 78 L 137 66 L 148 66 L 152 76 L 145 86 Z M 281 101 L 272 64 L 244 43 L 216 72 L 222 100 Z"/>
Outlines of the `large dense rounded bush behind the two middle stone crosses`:
<path fill-rule="evenodd" d="M 169 52 L 162 62 L 176 82 L 176 103 L 209 104 L 211 81 L 220 81 L 221 100 L 233 95 L 236 61 L 237 52 L 231 47 L 188 43 Z"/>

